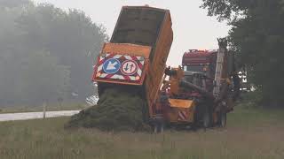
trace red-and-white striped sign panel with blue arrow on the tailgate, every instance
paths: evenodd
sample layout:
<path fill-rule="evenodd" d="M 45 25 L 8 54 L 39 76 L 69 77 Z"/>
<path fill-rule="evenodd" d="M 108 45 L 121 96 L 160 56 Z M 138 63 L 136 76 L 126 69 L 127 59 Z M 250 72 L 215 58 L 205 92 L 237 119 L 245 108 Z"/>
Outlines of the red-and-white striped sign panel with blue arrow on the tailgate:
<path fill-rule="evenodd" d="M 99 56 L 96 78 L 138 82 L 142 78 L 144 57 L 104 54 Z"/>

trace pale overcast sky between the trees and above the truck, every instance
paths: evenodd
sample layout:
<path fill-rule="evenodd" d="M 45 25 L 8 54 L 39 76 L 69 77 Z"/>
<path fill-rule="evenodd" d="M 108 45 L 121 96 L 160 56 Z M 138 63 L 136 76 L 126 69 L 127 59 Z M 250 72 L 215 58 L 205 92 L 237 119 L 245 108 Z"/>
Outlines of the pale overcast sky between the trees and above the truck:
<path fill-rule="evenodd" d="M 167 64 L 179 65 L 183 53 L 188 49 L 217 49 L 217 37 L 227 35 L 230 27 L 207 16 L 201 9 L 201 0 L 34 0 L 36 3 L 50 3 L 67 10 L 79 9 L 92 21 L 106 27 L 111 36 L 116 19 L 123 5 L 145 5 L 169 9 L 174 32 L 174 42 Z"/>

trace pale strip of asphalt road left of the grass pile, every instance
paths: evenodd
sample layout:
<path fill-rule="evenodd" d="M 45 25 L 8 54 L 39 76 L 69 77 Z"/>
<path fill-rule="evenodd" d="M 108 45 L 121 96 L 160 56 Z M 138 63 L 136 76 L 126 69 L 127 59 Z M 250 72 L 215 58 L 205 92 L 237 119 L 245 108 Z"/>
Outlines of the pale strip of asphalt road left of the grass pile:
<path fill-rule="evenodd" d="M 67 117 L 79 113 L 80 110 L 46 111 L 45 117 Z M 43 112 L 24 112 L 0 114 L 0 121 L 28 120 L 43 118 Z"/>

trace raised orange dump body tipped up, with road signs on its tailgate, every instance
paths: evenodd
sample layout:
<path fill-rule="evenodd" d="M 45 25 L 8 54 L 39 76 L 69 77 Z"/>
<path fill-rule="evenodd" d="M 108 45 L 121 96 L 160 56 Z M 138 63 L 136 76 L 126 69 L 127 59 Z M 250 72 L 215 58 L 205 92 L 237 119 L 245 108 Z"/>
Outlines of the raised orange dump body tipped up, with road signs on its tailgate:
<path fill-rule="evenodd" d="M 138 89 L 153 117 L 172 39 L 169 10 L 123 6 L 95 67 L 93 80 L 99 84 L 99 94 L 107 87 Z"/>

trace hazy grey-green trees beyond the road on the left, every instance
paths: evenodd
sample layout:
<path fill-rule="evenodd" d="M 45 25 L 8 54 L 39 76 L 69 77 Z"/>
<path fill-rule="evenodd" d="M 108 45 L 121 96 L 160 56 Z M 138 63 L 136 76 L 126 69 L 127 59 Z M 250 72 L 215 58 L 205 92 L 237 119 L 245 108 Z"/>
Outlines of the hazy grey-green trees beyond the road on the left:
<path fill-rule="evenodd" d="M 106 29 L 83 11 L 0 2 L 0 105 L 84 101 Z"/>

